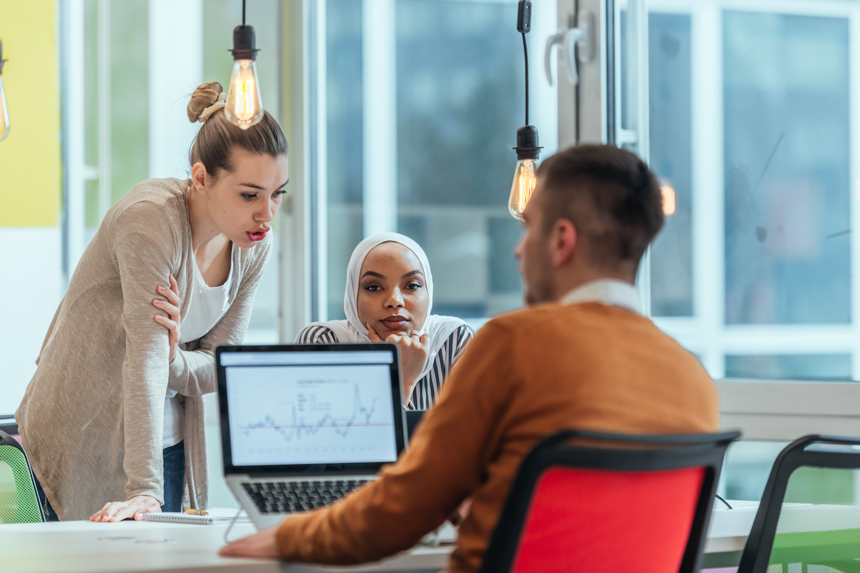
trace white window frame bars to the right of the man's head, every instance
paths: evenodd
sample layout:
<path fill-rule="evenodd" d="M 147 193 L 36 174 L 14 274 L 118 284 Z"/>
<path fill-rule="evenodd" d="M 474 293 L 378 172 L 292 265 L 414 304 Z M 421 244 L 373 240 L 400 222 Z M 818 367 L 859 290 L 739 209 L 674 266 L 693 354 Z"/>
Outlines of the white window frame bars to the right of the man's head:
<path fill-rule="evenodd" d="M 819 15 L 849 20 L 850 61 L 858 61 L 860 49 L 860 7 L 843 1 L 816 0 L 649 0 L 649 11 L 660 14 L 689 15 L 693 66 L 692 88 L 692 226 L 703 229 L 693 241 L 693 314 L 691 317 L 654 317 L 654 322 L 674 338 L 685 341 L 687 348 L 701 357 L 715 378 L 722 378 L 726 356 L 784 354 L 850 354 L 852 377 L 860 380 L 860 281 L 851 286 L 851 323 L 832 325 L 727 325 L 725 324 L 725 253 L 724 253 L 724 178 L 722 116 L 722 11 L 788 15 Z M 698 55 L 698 58 L 697 58 Z M 702 58 L 706 56 L 707 58 Z M 704 60 L 704 63 L 702 64 Z M 851 70 L 851 109 L 860 110 L 860 77 Z M 711 110 L 703 113 L 702 110 Z M 716 110 L 716 113 L 713 111 Z M 860 158 L 860 121 L 851 113 L 851 166 L 849 178 L 857 181 Z M 714 160 L 716 158 L 716 161 Z M 849 194 L 851 227 L 860 224 L 855 192 Z M 711 240 L 698 240 L 710 237 Z M 860 276 L 860 243 L 851 238 L 851 276 Z M 697 261 L 708 261 L 707 265 Z"/>

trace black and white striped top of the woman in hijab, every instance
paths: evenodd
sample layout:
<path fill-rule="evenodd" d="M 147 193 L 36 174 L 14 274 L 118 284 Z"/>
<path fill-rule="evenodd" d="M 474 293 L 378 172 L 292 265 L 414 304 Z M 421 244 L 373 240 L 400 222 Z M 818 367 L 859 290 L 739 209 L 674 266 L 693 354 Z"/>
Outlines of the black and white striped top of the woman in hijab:
<path fill-rule="evenodd" d="M 475 331 L 467 324 L 451 332 L 451 336 L 445 340 L 441 350 L 436 353 L 436 357 L 433 359 L 433 368 L 415 384 L 412 397 L 406 405 L 407 410 L 427 410 L 436 404 L 436 400 L 439 399 L 439 389 L 445 378 L 448 377 L 451 366 L 466 350 L 466 345 L 469 344 L 473 336 L 475 336 Z M 335 336 L 334 331 L 320 325 L 305 326 L 296 338 L 297 344 L 337 344 L 338 342 L 340 341 Z"/>

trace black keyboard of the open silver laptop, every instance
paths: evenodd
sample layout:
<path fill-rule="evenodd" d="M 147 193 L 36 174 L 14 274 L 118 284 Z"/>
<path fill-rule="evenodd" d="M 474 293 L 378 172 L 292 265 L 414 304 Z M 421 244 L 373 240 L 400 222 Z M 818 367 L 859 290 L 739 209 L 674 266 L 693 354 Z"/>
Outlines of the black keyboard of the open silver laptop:
<path fill-rule="evenodd" d="M 261 514 L 306 511 L 336 502 L 369 479 L 344 479 L 304 482 L 255 482 L 243 488 Z"/>

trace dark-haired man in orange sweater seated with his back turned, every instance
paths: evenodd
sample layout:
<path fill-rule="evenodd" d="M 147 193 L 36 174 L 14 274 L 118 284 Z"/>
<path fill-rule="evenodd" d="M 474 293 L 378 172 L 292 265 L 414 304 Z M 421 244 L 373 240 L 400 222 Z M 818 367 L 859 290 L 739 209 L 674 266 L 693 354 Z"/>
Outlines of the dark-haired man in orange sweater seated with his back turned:
<path fill-rule="evenodd" d="M 713 381 L 642 316 L 633 286 L 662 223 L 660 187 L 636 155 L 581 145 L 546 160 L 516 249 L 530 307 L 476 334 L 408 452 L 378 480 L 221 555 L 374 561 L 415 546 L 471 497 L 448 570 L 476 571 L 542 436 L 716 431 Z"/>

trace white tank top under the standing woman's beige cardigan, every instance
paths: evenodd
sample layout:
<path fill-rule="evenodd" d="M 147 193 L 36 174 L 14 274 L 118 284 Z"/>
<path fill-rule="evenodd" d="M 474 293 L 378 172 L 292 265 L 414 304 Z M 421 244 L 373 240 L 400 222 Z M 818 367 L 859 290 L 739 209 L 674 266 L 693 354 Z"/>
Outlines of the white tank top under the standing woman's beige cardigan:
<path fill-rule="evenodd" d="M 200 269 L 194 262 L 194 279 L 191 285 L 191 303 L 181 317 L 179 328 L 179 344 L 185 344 L 201 338 L 230 308 L 230 282 L 233 279 L 233 252 L 230 246 L 230 273 L 221 286 L 211 287 L 203 280 Z M 164 400 L 164 434 L 162 448 L 175 446 L 182 441 L 185 430 L 185 408 L 181 405 L 175 390 L 167 389 Z"/>

